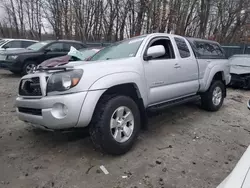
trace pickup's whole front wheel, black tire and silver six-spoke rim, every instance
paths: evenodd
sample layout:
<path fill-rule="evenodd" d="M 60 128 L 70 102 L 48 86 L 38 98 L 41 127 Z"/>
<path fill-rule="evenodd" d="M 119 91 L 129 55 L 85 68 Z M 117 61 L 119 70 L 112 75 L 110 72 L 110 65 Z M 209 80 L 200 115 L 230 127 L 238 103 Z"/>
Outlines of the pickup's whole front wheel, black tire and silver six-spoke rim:
<path fill-rule="evenodd" d="M 90 125 L 94 145 L 102 151 L 121 155 L 130 150 L 140 130 L 140 112 L 128 96 L 104 96 Z"/>

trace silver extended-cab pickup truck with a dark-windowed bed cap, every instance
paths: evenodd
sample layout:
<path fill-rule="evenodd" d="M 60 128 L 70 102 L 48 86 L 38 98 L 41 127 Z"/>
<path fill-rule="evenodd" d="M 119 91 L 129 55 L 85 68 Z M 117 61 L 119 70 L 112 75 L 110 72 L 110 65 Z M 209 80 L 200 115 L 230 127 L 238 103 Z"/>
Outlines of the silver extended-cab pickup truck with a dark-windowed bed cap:
<path fill-rule="evenodd" d="M 89 61 L 22 77 L 17 113 L 48 130 L 88 126 L 97 148 L 123 154 L 147 110 L 201 99 L 204 109 L 217 111 L 230 78 L 218 43 L 154 33 L 117 42 Z"/>

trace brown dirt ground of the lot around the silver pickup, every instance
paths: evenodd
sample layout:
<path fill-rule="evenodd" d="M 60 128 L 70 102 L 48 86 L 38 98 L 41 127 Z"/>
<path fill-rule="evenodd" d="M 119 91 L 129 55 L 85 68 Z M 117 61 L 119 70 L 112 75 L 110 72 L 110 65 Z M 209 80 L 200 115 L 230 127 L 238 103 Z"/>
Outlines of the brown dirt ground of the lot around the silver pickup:
<path fill-rule="evenodd" d="M 132 151 L 112 157 L 95 151 L 84 132 L 45 132 L 19 121 L 19 79 L 0 70 L 0 187 L 216 187 L 250 144 L 249 91 L 229 90 L 217 113 L 188 104 L 151 114 Z"/>

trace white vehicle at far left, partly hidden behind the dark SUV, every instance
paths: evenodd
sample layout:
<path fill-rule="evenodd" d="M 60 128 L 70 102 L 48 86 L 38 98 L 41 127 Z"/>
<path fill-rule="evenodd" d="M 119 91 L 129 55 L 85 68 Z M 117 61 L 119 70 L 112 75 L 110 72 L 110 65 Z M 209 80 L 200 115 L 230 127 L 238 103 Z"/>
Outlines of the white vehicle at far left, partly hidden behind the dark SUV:
<path fill-rule="evenodd" d="M 27 48 L 37 42 L 36 40 L 28 39 L 2 39 L 0 40 L 0 51 Z"/>

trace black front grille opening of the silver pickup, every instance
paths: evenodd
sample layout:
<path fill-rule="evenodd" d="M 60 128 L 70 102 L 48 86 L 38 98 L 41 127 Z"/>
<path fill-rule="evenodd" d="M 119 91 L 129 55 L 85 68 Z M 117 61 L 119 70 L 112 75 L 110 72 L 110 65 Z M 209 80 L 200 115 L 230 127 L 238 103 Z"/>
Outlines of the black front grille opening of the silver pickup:
<path fill-rule="evenodd" d="M 42 96 L 42 90 L 40 86 L 40 78 L 28 78 L 21 80 L 19 86 L 19 95 L 22 96 Z"/>

